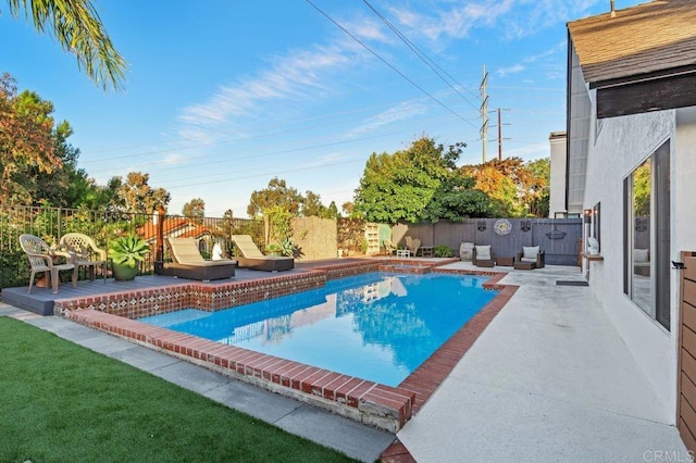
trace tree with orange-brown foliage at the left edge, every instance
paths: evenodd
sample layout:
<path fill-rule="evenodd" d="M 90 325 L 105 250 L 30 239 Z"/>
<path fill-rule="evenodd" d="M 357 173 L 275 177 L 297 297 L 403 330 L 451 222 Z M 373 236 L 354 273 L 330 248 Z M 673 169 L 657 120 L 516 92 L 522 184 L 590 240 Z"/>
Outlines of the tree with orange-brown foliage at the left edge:
<path fill-rule="evenodd" d="M 16 93 L 10 74 L 0 77 L 0 202 L 30 203 L 33 172 L 61 166 L 52 136 L 53 105 L 36 93 Z"/>

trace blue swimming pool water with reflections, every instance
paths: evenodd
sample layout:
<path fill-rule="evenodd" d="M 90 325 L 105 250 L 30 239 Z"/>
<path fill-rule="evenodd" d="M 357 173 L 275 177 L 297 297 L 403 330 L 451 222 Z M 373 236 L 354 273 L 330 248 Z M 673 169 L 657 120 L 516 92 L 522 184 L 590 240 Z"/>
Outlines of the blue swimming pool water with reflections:
<path fill-rule="evenodd" d="M 487 277 L 371 273 L 219 312 L 140 322 L 397 386 L 497 291 Z"/>

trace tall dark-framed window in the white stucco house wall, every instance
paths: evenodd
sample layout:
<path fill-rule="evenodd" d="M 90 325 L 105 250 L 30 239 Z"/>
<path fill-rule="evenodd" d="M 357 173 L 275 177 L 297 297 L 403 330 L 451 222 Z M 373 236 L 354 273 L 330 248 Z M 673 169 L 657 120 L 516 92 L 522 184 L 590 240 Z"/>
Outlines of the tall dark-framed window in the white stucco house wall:
<path fill-rule="evenodd" d="M 670 329 L 670 146 L 624 180 L 624 292 Z"/>

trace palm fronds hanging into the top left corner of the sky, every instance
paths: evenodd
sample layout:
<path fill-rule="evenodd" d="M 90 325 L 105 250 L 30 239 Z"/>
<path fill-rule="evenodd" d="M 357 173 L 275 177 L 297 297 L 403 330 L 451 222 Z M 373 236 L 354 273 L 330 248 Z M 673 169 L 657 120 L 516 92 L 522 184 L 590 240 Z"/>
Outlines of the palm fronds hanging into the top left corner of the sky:
<path fill-rule="evenodd" d="M 49 33 L 63 50 L 75 54 L 77 67 L 104 90 L 120 89 L 125 60 L 111 43 L 99 13 L 89 0 L 8 0 L 10 14 L 32 18 L 39 33 Z"/>

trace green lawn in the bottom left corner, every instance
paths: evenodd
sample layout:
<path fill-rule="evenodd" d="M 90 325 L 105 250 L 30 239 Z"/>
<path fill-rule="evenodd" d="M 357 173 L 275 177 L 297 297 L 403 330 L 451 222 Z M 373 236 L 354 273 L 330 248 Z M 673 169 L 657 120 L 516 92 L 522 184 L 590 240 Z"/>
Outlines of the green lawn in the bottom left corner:
<path fill-rule="evenodd" d="M 133 366 L 0 317 L 0 461 L 338 462 Z"/>

